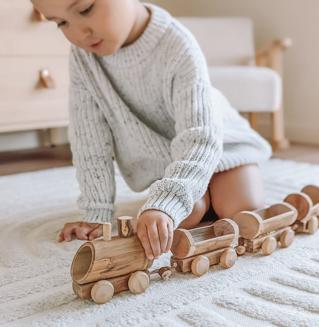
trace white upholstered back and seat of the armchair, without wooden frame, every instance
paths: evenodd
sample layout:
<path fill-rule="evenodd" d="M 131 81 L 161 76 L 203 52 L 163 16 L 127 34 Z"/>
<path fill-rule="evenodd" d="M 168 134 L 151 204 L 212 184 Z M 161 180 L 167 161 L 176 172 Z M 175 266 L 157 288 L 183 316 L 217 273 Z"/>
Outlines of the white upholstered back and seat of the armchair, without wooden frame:
<path fill-rule="evenodd" d="M 282 98 L 281 77 L 256 67 L 253 23 L 245 17 L 176 17 L 199 43 L 214 87 L 240 112 L 274 112 Z"/>

